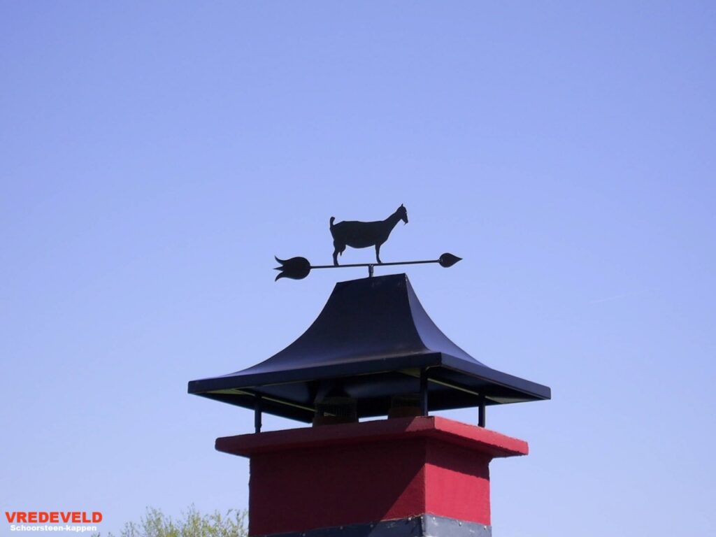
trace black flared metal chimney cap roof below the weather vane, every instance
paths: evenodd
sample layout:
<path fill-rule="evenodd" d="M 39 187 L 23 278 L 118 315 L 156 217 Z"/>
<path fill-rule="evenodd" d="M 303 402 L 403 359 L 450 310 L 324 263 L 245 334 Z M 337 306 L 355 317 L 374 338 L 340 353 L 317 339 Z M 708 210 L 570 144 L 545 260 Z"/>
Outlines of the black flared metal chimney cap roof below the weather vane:
<path fill-rule="evenodd" d="M 386 415 L 392 395 L 419 390 L 427 370 L 428 409 L 545 400 L 551 390 L 492 369 L 460 349 L 432 322 L 405 274 L 336 284 L 299 339 L 241 371 L 189 382 L 203 397 L 310 422 L 334 389 L 357 400 L 359 417 Z M 483 399 L 484 398 L 484 399 Z"/>

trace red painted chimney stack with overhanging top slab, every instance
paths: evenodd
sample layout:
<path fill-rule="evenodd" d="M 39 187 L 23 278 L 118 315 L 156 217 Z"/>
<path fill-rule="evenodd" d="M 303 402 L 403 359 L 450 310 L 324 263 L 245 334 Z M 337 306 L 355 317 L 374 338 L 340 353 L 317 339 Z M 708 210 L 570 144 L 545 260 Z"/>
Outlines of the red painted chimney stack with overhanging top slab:
<path fill-rule="evenodd" d="M 490 523 L 488 464 L 526 442 L 440 417 L 218 438 L 251 458 L 251 536 L 430 513 Z"/>

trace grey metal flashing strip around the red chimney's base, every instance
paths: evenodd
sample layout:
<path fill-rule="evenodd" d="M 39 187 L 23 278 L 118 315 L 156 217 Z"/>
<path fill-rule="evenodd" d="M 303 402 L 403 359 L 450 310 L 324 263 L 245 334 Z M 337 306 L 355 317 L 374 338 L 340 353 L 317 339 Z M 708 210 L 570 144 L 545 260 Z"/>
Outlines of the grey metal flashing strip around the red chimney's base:
<path fill-rule="evenodd" d="M 437 515 L 420 515 L 367 524 L 349 524 L 271 537 L 491 537 L 492 526 Z M 263 537 L 263 536 L 256 536 Z"/>

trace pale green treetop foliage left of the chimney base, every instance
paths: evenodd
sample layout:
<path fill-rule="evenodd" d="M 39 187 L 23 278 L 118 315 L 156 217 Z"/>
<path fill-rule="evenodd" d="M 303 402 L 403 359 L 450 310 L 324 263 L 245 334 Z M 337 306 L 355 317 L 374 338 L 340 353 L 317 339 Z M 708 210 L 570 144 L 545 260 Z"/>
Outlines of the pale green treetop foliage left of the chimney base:
<path fill-rule="evenodd" d="M 159 509 L 147 508 L 137 522 L 127 522 L 120 537 L 246 537 L 246 511 L 230 509 L 200 513 L 194 505 L 174 520 Z M 95 537 L 95 536 L 93 536 Z M 96 537 L 100 537 L 97 535 Z M 115 537 L 110 533 L 108 537 Z"/>

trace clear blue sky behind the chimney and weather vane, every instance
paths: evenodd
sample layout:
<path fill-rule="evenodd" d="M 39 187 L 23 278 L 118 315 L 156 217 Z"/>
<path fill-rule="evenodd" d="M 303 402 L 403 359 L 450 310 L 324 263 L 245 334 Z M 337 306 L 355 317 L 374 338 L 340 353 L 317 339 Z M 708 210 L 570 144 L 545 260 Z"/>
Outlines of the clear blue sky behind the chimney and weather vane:
<path fill-rule="evenodd" d="M 246 507 L 213 440 L 251 413 L 186 382 L 363 276 L 274 254 L 405 203 L 383 260 L 462 256 L 408 271 L 432 319 L 553 390 L 488 413 L 531 444 L 495 535 L 713 533 L 715 36 L 696 1 L 2 1 L 2 510 Z"/>

